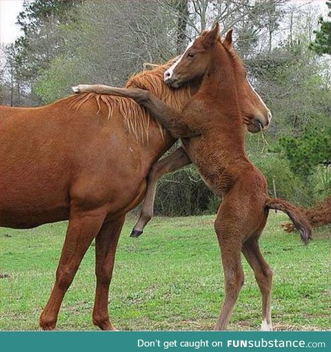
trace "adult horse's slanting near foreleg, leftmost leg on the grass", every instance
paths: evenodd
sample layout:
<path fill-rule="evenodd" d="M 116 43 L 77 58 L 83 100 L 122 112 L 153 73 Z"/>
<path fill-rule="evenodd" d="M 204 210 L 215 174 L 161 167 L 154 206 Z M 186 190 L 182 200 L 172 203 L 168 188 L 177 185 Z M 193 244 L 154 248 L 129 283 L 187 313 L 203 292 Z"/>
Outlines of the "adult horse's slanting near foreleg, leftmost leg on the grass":
<path fill-rule="evenodd" d="M 75 212 L 70 215 L 54 287 L 39 318 L 41 329 L 55 328 L 63 297 L 70 287 L 84 254 L 93 238 L 97 236 L 105 216 L 106 211 L 103 209 Z"/>

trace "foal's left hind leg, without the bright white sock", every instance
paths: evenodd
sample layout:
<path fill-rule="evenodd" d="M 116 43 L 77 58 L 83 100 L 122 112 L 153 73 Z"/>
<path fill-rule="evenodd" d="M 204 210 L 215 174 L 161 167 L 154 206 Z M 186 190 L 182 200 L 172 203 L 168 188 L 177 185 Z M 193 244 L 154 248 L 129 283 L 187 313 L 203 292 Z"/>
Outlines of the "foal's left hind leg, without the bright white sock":
<path fill-rule="evenodd" d="M 224 205 L 221 205 L 221 209 Z M 219 211 L 215 222 L 215 231 L 219 246 L 221 248 L 221 258 L 224 271 L 225 297 L 219 313 L 219 319 L 214 330 L 225 330 L 228 326 L 234 304 L 237 302 L 239 292 L 243 285 L 243 268 L 241 266 L 241 232 L 238 229 L 237 220 L 230 216 L 230 212 L 225 214 Z"/>

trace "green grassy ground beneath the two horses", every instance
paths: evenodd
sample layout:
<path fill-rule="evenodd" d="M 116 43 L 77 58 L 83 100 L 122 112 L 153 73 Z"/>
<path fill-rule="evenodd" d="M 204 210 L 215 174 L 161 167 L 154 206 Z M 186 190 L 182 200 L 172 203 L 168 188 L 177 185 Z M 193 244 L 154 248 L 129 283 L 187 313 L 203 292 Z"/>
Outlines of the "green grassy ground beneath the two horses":
<path fill-rule="evenodd" d="M 272 214 L 261 247 L 274 269 L 272 318 L 279 330 L 330 329 L 330 227 L 305 247 L 285 234 L 283 214 Z M 154 218 L 138 239 L 122 231 L 109 311 L 123 330 L 206 330 L 217 320 L 223 273 L 214 216 Z M 66 222 L 37 229 L 0 229 L 0 329 L 34 330 L 54 281 Z M 245 284 L 230 329 L 259 329 L 260 293 L 243 260 Z M 91 330 L 94 248 L 81 264 L 60 311 L 57 328 Z"/>

